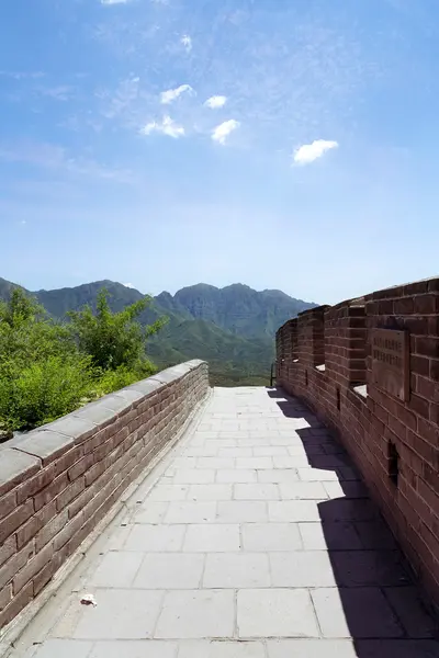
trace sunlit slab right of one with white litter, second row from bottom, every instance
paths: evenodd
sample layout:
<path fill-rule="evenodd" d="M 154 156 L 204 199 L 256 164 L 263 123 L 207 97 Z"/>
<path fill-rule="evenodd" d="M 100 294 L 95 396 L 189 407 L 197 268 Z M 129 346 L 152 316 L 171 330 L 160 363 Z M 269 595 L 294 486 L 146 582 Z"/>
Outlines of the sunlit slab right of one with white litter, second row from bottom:
<path fill-rule="evenodd" d="M 234 626 L 234 591 L 170 591 L 165 597 L 155 637 L 233 637 Z"/>

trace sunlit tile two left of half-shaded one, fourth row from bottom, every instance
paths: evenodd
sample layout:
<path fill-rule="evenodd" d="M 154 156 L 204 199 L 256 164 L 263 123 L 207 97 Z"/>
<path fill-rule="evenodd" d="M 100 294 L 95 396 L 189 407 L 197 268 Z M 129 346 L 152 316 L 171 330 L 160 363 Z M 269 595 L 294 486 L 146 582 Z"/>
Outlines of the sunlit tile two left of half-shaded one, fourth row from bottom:
<path fill-rule="evenodd" d="M 239 525 L 205 523 L 188 525 L 183 551 L 192 553 L 234 552 L 240 549 Z"/>

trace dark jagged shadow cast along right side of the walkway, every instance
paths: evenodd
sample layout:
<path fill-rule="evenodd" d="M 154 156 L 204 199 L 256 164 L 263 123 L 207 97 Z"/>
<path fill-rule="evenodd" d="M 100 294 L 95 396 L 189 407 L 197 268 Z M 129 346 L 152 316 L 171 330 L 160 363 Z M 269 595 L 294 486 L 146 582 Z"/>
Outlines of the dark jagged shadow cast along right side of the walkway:
<path fill-rule="evenodd" d="M 318 503 L 322 529 L 308 524 L 304 536 L 305 549 L 328 552 L 337 582 L 320 601 L 331 619 L 324 635 L 351 636 L 358 658 L 438 658 L 437 622 L 347 452 L 301 401 L 281 389 L 268 395 L 297 419 L 309 465 L 318 469 L 313 477 L 329 495 Z"/>

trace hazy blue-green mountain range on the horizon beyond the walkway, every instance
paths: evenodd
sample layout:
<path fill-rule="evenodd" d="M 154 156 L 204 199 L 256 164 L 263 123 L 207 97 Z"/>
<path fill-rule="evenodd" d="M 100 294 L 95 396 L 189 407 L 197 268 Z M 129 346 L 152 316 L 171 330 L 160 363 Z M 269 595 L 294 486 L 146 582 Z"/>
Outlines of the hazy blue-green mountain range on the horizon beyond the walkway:
<path fill-rule="evenodd" d="M 0 298 L 7 299 L 14 285 L 0 279 Z M 68 310 L 78 310 L 86 304 L 93 307 L 102 287 L 110 293 L 113 310 L 121 310 L 144 296 L 114 281 L 26 292 L 53 317 L 63 319 Z M 277 329 L 313 306 L 281 291 L 257 292 L 240 283 L 223 288 L 200 283 L 175 295 L 162 292 L 153 297 L 139 321 L 149 325 L 158 317 L 169 318 L 148 342 L 148 354 L 160 367 L 204 359 L 210 363 L 214 385 L 268 384 Z"/>

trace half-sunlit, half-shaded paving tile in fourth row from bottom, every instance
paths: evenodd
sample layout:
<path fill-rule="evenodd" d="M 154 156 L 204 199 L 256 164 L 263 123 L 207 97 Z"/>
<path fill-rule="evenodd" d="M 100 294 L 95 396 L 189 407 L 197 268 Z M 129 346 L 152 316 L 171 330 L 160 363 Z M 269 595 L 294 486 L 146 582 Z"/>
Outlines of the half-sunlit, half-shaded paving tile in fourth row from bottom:
<path fill-rule="evenodd" d="M 361 551 L 352 523 L 299 523 L 305 551 Z"/>

